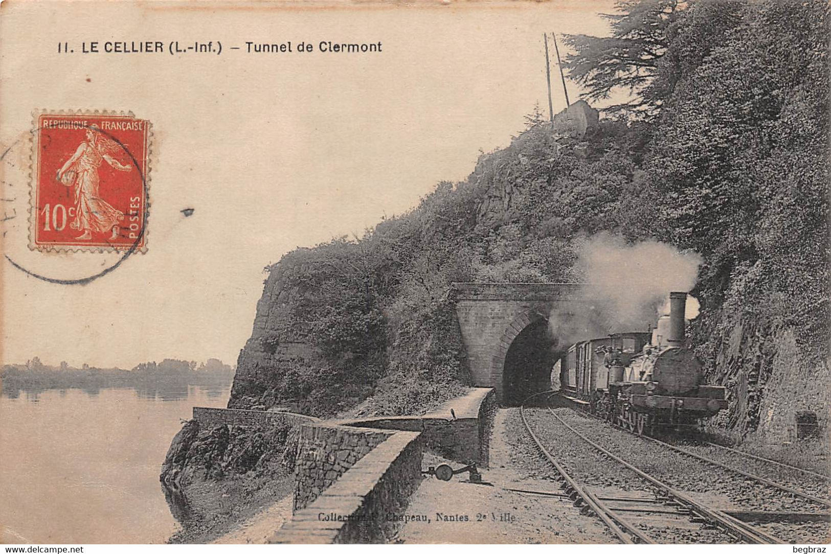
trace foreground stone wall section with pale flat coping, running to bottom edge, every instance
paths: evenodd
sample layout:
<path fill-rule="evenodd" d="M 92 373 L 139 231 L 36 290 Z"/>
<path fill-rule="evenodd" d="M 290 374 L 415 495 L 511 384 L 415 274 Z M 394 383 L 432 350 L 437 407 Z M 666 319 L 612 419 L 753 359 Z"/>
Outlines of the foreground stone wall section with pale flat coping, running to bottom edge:
<path fill-rule="evenodd" d="M 420 434 L 399 431 L 358 460 L 314 502 L 294 513 L 268 542 L 330 544 L 390 542 L 388 521 L 421 482 Z"/>

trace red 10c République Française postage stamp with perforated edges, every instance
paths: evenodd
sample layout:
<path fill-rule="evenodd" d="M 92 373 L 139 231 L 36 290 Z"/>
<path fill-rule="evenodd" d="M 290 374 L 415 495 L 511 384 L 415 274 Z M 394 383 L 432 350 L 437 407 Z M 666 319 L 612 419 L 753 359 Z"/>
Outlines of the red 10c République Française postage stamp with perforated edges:
<path fill-rule="evenodd" d="M 30 248 L 144 252 L 150 123 L 41 112 L 34 124 Z"/>

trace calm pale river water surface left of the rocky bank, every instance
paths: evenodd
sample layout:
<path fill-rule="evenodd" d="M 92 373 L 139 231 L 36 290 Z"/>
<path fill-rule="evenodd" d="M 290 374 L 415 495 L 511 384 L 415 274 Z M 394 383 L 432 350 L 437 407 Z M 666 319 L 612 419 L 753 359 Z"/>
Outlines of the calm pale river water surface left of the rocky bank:
<path fill-rule="evenodd" d="M 0 395 L 0 542 L 165 542 L 179 525 L 159 483 L 193 406 L 230 385 Z"/>

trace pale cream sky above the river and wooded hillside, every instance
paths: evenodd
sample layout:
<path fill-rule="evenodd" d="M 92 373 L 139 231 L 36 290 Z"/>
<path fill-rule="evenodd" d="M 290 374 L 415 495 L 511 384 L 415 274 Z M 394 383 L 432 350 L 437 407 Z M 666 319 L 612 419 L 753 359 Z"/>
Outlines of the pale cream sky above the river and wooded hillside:
<path fill-rule="evenodd" d="M 297 246 L 360 235 L 441 180 L 465 179 L 480 150 L 509 145 L 535 104 L 547 113 L 542 33 L 604 35 L 598 12 L 612 12 L 612 2 L 557 1 L 350 10 L 71 3 L 48 37 L 29 30 L 54 28 L 49 4 L 15 5 L 0 22 L 2 145 L 13 154 L 0 167 L 3 194 L 27 196 L 9 160 L 25 165 L 17 139 L 32 110 L 131 110 L 154 130 L 148 250 L 86 286 L 38 281 L 3 261 L 4 363 L 35 355 L 125 369 L 163 358 L 235 363 L 263 267 Z M 380 41 L 382 52 L 59 57 L 61 37 L 243 48 Z M 565 101 L 553 51 L 552 71 L 556 112 Z M 20 209 L 2 248 L 27 267 L 77 277 L 111 261 L 29 251 L 27 205 Z"/>

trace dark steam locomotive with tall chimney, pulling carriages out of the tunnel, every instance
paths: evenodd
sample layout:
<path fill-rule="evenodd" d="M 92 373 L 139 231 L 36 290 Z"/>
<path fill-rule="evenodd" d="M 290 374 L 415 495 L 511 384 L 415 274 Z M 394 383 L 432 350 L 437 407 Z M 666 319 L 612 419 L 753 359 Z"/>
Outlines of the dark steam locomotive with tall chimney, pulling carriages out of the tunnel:
<path fill-rule="evenodd" d="M 670 315 L 652 333 L 582 341 L 554 365 L 562 396 L 638 434 L 697 426 L 727 408 L 725 387 L 705 385 L 684 346 L 686 292 L 670 293 Z"/>

